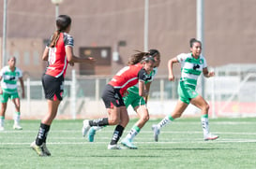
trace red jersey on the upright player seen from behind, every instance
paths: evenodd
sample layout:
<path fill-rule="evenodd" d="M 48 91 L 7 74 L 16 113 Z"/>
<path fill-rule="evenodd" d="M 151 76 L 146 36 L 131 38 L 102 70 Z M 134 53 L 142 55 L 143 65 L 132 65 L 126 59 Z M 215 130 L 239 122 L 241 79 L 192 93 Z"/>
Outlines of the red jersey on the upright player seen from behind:
<path fill-rule="evenodd" d="M 65 50 L 66 46 L 74 46 L 73 37 L 67 33 L 60 33 L 54 48 L 51 48 L 48 45 L 48 66 L 46 67 L 45 74 L 52 77 L 60 77 L 62 75 L 65 77 L 68 67 L 68 59 Z"/>

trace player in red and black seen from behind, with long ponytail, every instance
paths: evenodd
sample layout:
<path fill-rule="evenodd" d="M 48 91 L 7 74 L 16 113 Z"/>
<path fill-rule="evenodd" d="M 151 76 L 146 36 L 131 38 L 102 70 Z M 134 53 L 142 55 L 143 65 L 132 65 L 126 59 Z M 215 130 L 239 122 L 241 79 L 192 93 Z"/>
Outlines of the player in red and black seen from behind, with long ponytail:
<path fill-rule="evenodd" d="M 63 83 L 68 63 L 94 63 L 91 57 L 79 58 L 73 54 L 73 37 L 68 35 L 71 29 L 71 19 L 68 15 L 60 15 L 56 20 L 57 30 L 53 33 L 50 43 L 44 49 L 42 60 L 48 61 L 45 73 L 42 76 L 42 86 L 47 99 L 48 111 L 41 120 L 38 136 L 30 147 L 36 150 L 39 156 L 51 156 L 46 147 L 47 134 L 56 117 L 58 106 L 62 101 Z"/>

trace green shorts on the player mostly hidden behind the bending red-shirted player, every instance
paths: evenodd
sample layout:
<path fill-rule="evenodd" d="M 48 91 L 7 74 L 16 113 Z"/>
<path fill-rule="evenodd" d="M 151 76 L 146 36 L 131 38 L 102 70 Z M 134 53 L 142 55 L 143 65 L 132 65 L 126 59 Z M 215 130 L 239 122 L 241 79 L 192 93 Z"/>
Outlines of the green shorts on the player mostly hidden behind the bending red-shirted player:
<path fill-rule="evenodd" d="M 132 106 L 133 108 L 136 106 L 143 106 L 145 105 L 145 101 L 142 96 L 138 93 L 129 92 L 127 96 L 123 97 L 125 105 Z"/>

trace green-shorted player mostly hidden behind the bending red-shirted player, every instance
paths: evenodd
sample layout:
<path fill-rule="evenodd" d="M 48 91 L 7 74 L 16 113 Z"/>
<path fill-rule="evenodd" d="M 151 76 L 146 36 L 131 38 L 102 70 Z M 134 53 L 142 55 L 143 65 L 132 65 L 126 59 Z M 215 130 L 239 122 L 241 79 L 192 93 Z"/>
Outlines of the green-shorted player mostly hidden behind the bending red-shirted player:
<path fill-rule="evenodd" d="M 145 81 L 145 90 L 147 92 L 149 92 L 150 90 L 151 82 L 153 81 L 153 78 L 156 76 L 158 72 L 158 66 L 160 63 L 160 53 L 157 49 L 149 49 L 148 54 L 154 58 L 155 65 L 154 65 L 153 71 L 150 73 L 151 78 L 148 81 Z M 132 57 L 130 58 L 130 60 L 132 60 Z M 128 64 L 130 63 L 132 62 L 129 61 Z M 132 108 L 137 112 L 140 120 L 138 120 L 133 125 L 130 132 L 128 132 L 127 136 L 121 141 L 121 144 L 127 148 L 137 149 L 137 147 L 132 143 L 133 139 L 137 134 L 140 133 L 146 121 L 149 120 L 149 113 L 146 107 L 147 95 L 145 97 L 140 96 L 138 85 L 136 85 L 128 88 L 128 94 L 126 94 L 123 97 L 123 99 L 127 108 L 128 106 L 132 106 Z M 98 127 L 98 126 L 94 126 L 90 128 L 88 132 L 88 140 L 90 142 L 94 141 L 94 136 L 96 132 L 101 128 L 102 127 Z"/>

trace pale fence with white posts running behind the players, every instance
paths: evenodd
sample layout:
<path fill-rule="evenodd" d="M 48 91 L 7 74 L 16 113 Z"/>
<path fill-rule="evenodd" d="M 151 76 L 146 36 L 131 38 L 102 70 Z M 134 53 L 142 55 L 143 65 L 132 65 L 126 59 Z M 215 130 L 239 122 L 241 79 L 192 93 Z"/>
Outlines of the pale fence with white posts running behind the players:
<path fill-rule="evenodd" d="M 110 79 L 111 77 L 80 77 L 73 70 L 71 79 L 65 81 L 64 100 L 59 106 L 57 118 L 85 119 L 106 116 L 100 95 Z M 248 74 L 243 78 L 217 74 L 216 77 L 205 79 L 203 84 L 204 86 L 198 84 L 197 91 L 204 90 L 204 98 L 211 107 L 209 114 L 213 118 L 256 116 L 256 74 Z M 27 78 L 24 85 L 26 97 L 22 99 L 22 117 L 40 119 L 47 111 L 41 81 Z M 178 99 L 177 88 L 178 77 L 174 82 L 167 77 L 157 76 L 154 79 L 147 104 L 152 116 L 160 117 L 172 112 Z M 131 115 L 134 113 L 131 109 L 128 110 Z M 13 109 L 8 108 L 8 111 Z M 199 116 L 200 110 L 188 106 L 184 115 Z"/>

